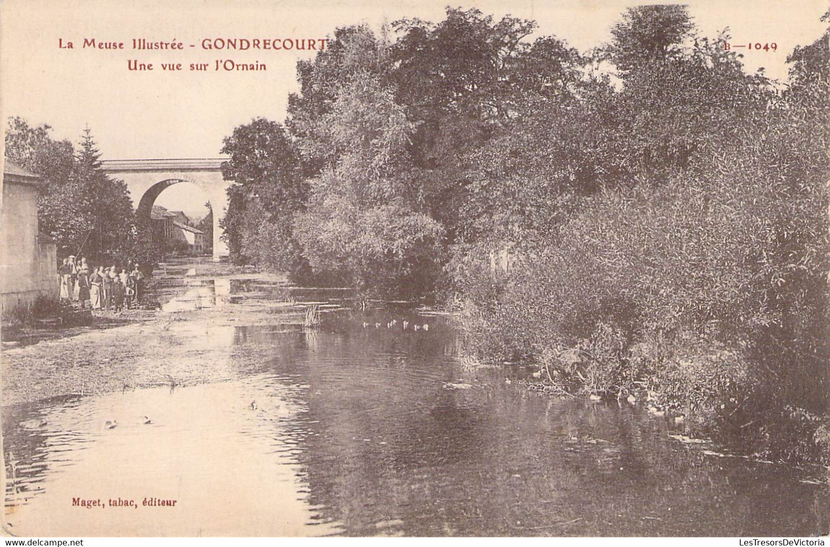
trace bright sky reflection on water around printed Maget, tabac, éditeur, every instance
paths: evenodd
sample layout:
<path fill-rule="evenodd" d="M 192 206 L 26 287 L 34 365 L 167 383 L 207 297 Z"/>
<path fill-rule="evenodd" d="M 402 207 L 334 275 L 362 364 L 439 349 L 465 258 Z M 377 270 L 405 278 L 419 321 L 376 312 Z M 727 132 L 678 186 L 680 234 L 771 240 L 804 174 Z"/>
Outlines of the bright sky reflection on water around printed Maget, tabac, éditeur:
<path fill-rule="evenodd" d="M 5 449 L 16 462 L 6 490 L 8 530 L 82 536 L 336 532 L 310 503 L 297 461 L 308 434 L 299 418 L 306 411 L 302 389 L 263 375 L 12 410 L 5 430 Z M 105 505 L 120 498 L 136 506 L 85 508 L 73 505 L 74 498 Z M 175 505 L 143 505 L 152 498 Z"/>

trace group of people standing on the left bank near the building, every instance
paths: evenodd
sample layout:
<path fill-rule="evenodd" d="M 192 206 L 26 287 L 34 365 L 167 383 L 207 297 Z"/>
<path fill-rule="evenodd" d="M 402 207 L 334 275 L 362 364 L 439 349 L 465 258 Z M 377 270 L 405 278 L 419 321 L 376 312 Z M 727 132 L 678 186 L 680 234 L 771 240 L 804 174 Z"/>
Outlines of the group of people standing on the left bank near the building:
<path fill-rule="evenodd" d="M 58 276 L 61 299 L 79 301 L 81 310 L 87 302 L 93 310 L 120 311 L 125 306 L 129 310 L 144 292 L 144 274 L 138 264 L 121 269 L 115 264 L 90 268 L 84 256 L 68 256 L 58 267 Z"/>

